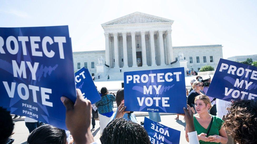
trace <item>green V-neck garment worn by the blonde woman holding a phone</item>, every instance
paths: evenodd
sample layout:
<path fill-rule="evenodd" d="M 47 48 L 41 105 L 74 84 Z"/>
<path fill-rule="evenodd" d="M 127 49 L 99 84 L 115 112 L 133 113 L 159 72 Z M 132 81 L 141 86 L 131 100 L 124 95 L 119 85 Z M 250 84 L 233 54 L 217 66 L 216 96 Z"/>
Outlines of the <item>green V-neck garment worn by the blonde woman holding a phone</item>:
<path fill-rule="evenodd" d="M 211 124 L 211 129 L 210 129 L 210 132 L 209 134 L 206 136 L 211 136 L 211 135 L 219 135 L 219 130 L 221 129 L 221 126 L 223 124 L 223 120 L 220 119 L 219 117 L 216 117 L 214 115 L 211 115 L 213 117 L 213 121 L 212 121 L 212 124 Z M 204 127 L 202 127 L 199 122 L 196 120 L 195 118 L 195 115 L 194 115 L 194 126 L 195 126 L 195 130 L 197 132 L 197 135 L 200 135 L 201 133 L 205 133 L 207 134 L 208 132 L 208 129 L 210 127 L 210 124 L 208 126 L 207 129 L 205 129 Z M 205 142 L 205 141 L 199 141 L 200 144 L 207 144 L 207 143 L 216 143 L 216 142 Z"/>

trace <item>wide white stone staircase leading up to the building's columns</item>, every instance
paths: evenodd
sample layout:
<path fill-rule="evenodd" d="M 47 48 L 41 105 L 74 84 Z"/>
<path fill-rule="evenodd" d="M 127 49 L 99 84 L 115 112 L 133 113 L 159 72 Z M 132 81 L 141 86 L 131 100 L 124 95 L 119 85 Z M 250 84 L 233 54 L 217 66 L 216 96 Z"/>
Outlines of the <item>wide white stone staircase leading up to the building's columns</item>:
<path fill-rule="evenodd" d="M 107 81 L 108 75 L 110 76 L 110 81 L 119 81 L 123 80 L 123 73 L 124 72 L 130 72 L 130 71 L 143 71 L 143 70 L 156 70 L 156 69 L 164 69 L 164 68 L 171 68 L 170 65 L 166 66 L 146 66 L 146 67 L 125 67 L 122 68 L 120 72 L 120 68 L 110 68 L 106 75 L 104 77 L 100 77 L 98 79 L 97 73 L 96 73 L 96 78 L 95 81 Z"/>

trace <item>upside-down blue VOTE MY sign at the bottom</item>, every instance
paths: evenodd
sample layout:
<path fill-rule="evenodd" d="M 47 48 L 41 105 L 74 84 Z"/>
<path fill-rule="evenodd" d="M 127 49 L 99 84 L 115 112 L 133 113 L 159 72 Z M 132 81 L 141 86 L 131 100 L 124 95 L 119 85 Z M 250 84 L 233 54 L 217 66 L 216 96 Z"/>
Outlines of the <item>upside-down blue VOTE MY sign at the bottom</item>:
<path fill-rule="evenodd" d="M 145 117 L 144 128 L 153 144 L 179 143 L 180 131 Z"/>

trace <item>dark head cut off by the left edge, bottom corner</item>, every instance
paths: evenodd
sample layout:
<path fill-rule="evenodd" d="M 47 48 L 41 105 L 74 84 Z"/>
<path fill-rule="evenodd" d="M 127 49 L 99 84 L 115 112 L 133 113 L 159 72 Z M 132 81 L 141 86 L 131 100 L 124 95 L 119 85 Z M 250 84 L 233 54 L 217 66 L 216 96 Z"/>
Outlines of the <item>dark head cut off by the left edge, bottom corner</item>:
<path fill-rule="evenodd" d="M 10 112 L 6 109 L 3 109 L 0 107 L 0 144 L 6 143 L 8 140 L 8 137 L 11 136 L 13 131 L 13 122 L 12 122 L 12 116 L 10 115 Z"/>

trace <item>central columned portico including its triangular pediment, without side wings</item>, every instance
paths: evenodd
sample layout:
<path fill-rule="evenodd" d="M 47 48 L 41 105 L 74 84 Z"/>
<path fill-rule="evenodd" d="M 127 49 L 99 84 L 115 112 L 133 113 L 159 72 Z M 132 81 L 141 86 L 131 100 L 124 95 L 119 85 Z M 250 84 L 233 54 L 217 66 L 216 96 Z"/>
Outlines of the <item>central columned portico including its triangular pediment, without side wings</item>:
<path fill-rule="evenodd" d="M 174 61 L 172 24 L 173 20 L 140 12 L 102 24 L 106 65 L 110 68 L 170 65 Z"/>

